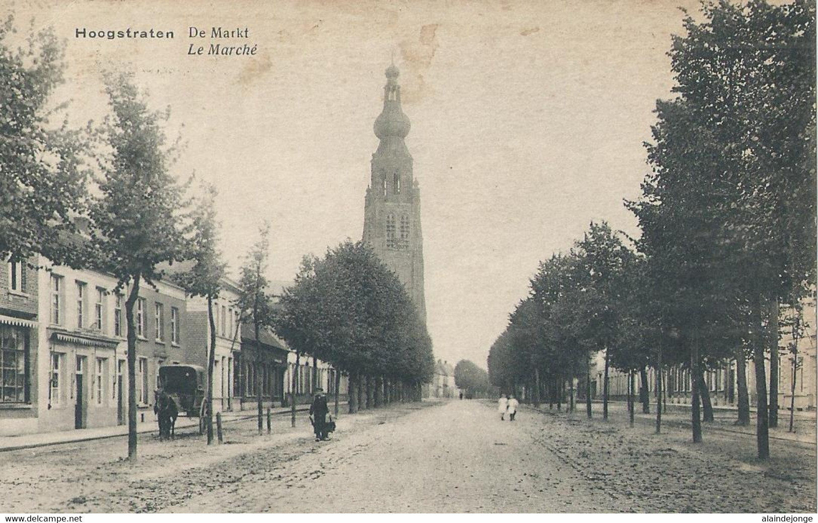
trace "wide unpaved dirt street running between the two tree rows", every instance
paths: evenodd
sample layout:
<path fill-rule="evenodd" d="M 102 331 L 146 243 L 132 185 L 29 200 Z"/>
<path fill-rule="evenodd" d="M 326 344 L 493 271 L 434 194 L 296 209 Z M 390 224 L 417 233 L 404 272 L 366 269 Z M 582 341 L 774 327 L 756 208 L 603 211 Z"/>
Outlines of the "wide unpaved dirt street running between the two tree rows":
<path fill-rule="evenodd" d="M 329 442 L 277 419 L 199 435 L 0 453 L 0 512 L 814 512 L 816 451 L 771 442 L 757 462 L 747 435 L 683 426 L 653 435 L 584 413 L 524 407 L 501 422 L 483 401 L 402 404 L 342 416 Z M 66 467 L 70 463 L 70 467 Z M 753 489 L 749 487 L 752 486 Z M 34 494 L 43 492 L 42 495 Z"/>

